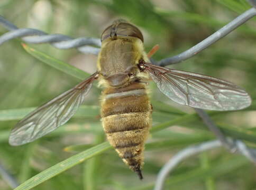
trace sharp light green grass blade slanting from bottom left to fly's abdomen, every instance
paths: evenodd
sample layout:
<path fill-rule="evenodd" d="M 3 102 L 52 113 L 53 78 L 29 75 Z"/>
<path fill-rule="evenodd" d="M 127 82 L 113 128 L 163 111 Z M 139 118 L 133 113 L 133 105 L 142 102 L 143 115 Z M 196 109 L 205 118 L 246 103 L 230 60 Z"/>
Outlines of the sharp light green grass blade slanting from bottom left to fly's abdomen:
<path fill-rule="evenodd" d="M 62 162 L 43 170 L 43 172 L 33 176 L 32 178 L 25 181 L 20 186 L 16 187 L 14 190 L 28 190 L 36 185 L 39 185 L 48 179 L 60 174 L 61 172 L 66 171 L 67 169 L 80 164 L 84 162 L 85 160 L 92 158 L 93 156 L 99 155 L 100 153 L 103 153 L 107 149 L 110 149 L 111 146 L 109 143 L 105 142 L 102 144 L 99 144 L 93 148 L 90 148 L 88 150 L 85 150 L 79 154 L 76 154 L 74 156 L 69 157 L 66 160 L 63 160 Z"/>

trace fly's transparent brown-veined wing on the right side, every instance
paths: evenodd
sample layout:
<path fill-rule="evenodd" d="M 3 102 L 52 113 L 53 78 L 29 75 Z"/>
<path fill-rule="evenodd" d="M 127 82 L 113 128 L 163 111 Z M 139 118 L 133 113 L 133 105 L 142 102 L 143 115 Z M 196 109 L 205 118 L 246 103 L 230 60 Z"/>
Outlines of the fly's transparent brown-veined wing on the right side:
<path fill-rule="evenodd" d="M 208 110 L 239 110 L 251 105 L 249 94 L 230 82 L 148 63 L 145 69 L 159 90 L 181 105 Z"/>

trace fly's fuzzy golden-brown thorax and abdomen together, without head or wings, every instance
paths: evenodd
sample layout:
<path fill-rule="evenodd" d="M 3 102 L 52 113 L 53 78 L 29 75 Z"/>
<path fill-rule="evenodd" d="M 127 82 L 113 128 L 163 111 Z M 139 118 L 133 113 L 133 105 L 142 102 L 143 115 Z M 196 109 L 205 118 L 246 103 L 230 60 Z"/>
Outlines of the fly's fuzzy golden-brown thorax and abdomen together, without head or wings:
<path fill-rule="evenodd" d="M 99 85 L 104 88 L 101 117 L 107 139 L 123 162 L 142 178 L 152 106 L 146 83 L 142 82 L 149 76 L 137 66 L 140 59 L 147 59 L 140 39 L 107 39 L 102 43 L 97 66 Z"/>

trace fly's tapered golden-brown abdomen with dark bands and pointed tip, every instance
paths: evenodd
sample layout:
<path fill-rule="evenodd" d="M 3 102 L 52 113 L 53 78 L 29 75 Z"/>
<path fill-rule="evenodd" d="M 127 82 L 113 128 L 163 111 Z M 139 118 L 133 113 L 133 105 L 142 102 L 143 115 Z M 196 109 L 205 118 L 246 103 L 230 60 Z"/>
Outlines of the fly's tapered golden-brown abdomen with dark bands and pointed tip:
<path fill-rule="evenodd" d="M 109 143 L 124 163 L 141 175 L 144 142 L 151 127 L 152 107 L 144 83 L 107 88 L 102 95 L 102 122 Z"/>

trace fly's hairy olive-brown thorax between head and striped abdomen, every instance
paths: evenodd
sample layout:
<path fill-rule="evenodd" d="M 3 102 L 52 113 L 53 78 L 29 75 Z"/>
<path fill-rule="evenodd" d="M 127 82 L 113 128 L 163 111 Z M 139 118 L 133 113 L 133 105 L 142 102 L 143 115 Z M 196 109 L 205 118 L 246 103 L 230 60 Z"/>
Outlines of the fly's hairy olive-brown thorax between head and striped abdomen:
<path fill-rule="evenodd" d="M 121 88 L 141 80 L 136 75 L 140 73 L 137 64 L 144 57 L 143 44 L 139 39 L 130 37 L 104 41 L 97 64 L 99 85 Z"/>

